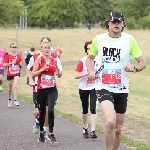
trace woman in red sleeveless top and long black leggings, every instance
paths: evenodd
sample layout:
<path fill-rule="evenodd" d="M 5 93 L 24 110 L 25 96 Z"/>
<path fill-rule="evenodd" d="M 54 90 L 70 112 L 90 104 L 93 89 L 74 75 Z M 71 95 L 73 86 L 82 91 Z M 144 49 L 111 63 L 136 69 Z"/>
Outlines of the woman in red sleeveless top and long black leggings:
<path fill-rule="evenodd" d="M 51 143 L 58 143 L 54 134 L 54 105 L 58 98 L 58 91 L 56 88 L 55 72 L 57 71 L 57 60 L 51 57 L 51 41 L 49 38 L 44 37 L 41 39 L 41 51 L 42 56 L 35 60 L 33 66 L 33 77 L 38 76 L 37 84 L 37 101 L 39 103 L 40 111 L 40 142 L 45 142 L 43 125 L 45 120 L 46 112 L 46 101 L 48 100 L 48 124 L 49 124 L 49 135 L 48 139 Z M 58 74 L 58 77 L 59 74 Z"/>

